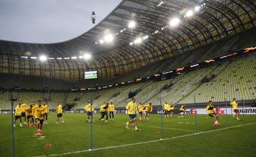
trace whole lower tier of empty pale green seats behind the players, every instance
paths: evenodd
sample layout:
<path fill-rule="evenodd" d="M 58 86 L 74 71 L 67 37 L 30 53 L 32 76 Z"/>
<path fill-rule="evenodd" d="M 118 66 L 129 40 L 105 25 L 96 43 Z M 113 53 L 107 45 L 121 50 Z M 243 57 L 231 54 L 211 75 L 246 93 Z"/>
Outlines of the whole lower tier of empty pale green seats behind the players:
<path fill-rule="evenodd" d="M 116 107 L 124 107 L 129 101 L 129 92 L 134 94 L 137 102 L 160 104 L 173 102 L 175 104 L 193 104 L 230 101 L 237 99 L 253 100 L 256 93 L 256 55 L 244 58 L 234 58 L 210 67 L 181 73 L 171 79 L 134 83 L 107 90 L 92 90 L 88 92 L 4 92 L 0 94 L 1 109 L 10 109 L 9 97 L 13 94 L 18 101 L 31 104 L 42 99 L 55 109 L 58 102 L 74 104 L 72 109 L 82 109 L 90 99 L 99 107 L 103 102 L 113 102 Z M 229 92 L 228 92 L 229 91 Z"/>

